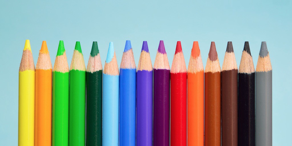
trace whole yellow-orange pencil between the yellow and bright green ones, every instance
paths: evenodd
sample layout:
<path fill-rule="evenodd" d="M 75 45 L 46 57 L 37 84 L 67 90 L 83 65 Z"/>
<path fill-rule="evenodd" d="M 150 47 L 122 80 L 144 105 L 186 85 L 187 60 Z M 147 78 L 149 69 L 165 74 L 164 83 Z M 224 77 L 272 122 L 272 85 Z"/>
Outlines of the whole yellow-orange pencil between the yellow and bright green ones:
<path fill-rule="evenodd" d="M 52 63 L 46 41 L 36 62 L 35 78 L 35 146 L 51 146 Z"/>

